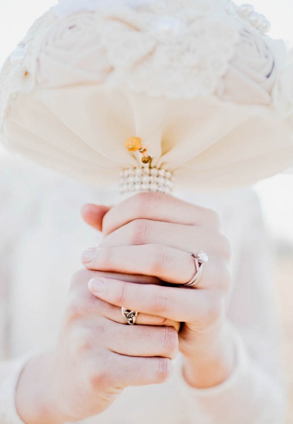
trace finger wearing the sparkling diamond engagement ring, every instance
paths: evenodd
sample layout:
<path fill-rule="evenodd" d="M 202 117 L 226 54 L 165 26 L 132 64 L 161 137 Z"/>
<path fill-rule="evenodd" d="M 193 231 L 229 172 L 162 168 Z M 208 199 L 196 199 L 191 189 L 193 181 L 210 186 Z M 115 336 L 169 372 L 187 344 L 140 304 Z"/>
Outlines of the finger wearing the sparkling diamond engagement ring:
<path fill-rule="evenodd" d="M 172 284 L 186 284 L 196 273 L 188 252 L 156 244 L 93 247 L 83 252 L 82 262 L 88 269 L 153 275 Z M 206 267 L 202 279 L 205 272 Z"/>

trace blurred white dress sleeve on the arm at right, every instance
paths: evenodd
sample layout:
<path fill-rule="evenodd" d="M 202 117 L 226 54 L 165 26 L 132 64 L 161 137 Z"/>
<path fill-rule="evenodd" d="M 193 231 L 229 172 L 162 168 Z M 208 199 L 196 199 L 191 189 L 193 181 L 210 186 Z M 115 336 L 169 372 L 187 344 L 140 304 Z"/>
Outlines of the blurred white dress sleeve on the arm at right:
<path fill-rule="evenodd" d="M 240 248 L 228 317 L 234 335 L 236 364 L 218 386 L 197 389 L 180 375 L 180 387 L 194 423 L 281 424 L 286 395 L 272 278 L 273 255 L 256 195 L 243 203 Z M 235 227 L 235 231 L 239 230 Z M 235 259 L 235 258 L 234 258 Z M 200 414 L 200 419 L 199 419 Z"/>

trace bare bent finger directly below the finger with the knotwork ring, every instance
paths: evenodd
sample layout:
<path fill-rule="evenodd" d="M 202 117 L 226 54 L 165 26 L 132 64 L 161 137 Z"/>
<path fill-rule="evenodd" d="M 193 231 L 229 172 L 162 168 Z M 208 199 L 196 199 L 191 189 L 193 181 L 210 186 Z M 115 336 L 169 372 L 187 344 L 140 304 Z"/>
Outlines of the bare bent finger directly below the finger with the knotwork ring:
<path fill-rule="evenodd" d="M 173 327 L 107 326 L 106 347 L 133 357 L 168 357 L 178 354 L 178 333 Z"/>

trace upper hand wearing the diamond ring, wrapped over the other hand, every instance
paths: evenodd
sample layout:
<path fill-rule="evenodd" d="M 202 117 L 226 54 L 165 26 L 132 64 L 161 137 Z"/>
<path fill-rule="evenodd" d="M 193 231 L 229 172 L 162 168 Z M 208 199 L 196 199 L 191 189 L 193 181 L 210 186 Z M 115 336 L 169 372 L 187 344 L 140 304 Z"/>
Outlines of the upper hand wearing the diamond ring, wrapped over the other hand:
<path fill-rule="evenodd" d="M 219 231 L 217 215 L 168 195 L 140 193 L 106 212 L 102 229 L 102 244 L 82 255 L 86 268 L 150 275 L 169 284 L 141 285 L 104 277 L 99 285 L 91 281 L 92 293 L 119 307 L 182 322 L 179 350 L 187 360 L 190 384 L 207 387 L 227 378 L 233 366 L 225 325 L 230 243 Z M 196 272 L 188 252 L 200 250 L 209 261 L 202 265 L 199 283 L 184 287 Z M 206 366 L 204 378 L 201 366 Z"/>

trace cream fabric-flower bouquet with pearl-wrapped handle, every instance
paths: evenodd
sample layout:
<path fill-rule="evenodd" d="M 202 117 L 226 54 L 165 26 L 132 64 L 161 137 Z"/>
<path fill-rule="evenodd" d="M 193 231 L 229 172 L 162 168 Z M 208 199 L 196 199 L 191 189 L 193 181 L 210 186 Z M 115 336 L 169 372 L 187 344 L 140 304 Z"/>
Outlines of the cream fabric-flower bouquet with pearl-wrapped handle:
<path fill-rule="evenodd" d="M 293 163 L 293 54 L 269 27 L 230 0 L 60 0 L 2 68 L 5 143 L 93 184 L 126 170 L 129 193 L 269 177 Z"/>

